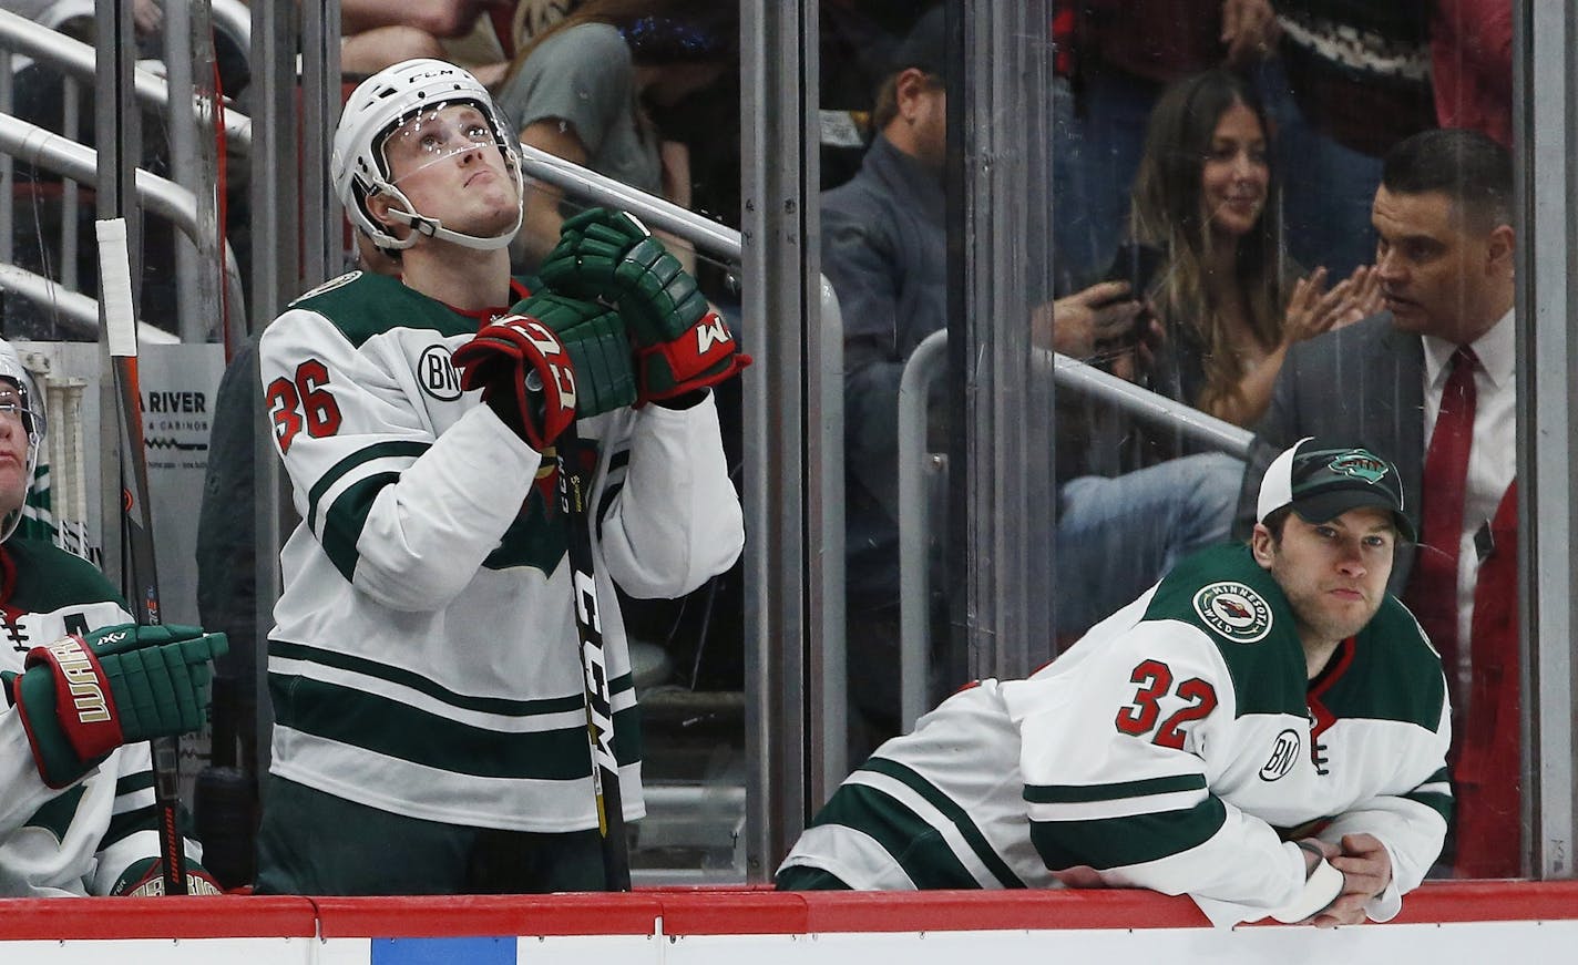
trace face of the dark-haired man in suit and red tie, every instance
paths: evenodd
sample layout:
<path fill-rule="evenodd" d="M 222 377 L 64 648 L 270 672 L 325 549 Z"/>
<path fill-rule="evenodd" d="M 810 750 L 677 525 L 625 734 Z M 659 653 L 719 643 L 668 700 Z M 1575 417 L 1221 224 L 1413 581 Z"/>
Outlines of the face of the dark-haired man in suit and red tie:
<path fill-rule="evenodd" d="M 1512 259 L 1512 229 L 1475 224 L 1439 191 L 1376 189 L 1376 270 L 1393 323 L 1456 344 L 1472 342 L 1501 315 L 1490 304 Z"/>

